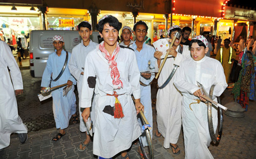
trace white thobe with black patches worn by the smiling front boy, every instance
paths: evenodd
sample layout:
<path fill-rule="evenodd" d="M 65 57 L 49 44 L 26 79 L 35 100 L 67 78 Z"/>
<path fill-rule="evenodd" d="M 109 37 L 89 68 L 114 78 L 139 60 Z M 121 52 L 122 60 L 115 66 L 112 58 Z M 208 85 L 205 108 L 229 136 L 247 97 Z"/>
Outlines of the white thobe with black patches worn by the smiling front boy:
<path fill-rule="evenodd" d="M 97 46 L 87 55 L 81 91 L 81 108 L 91 107 L 93 92 L 96 94 L 94 98 L 93 154 L 104 158 L 113 157 L 117 153 L 129 149 L 132 142 L 141 135 L 136 109 L 131 97 L 133 94 L 135 99 L 140 98 L 140 72 L 134 51 L 120 46 L 115 61 L 123 88 L 114 89 L 110 74 L 111 68 Z M 90 83 L 90 79 L 95 76 L 96 85 L 89 85 L 88 82 Z M 113 109 L 115 97 L 106 94 L 113 94 L 114 91 L 118 94 L 118 100 L 122 105 L 124 117 L 121 119 L 103 112 L 106 106 L 109 107 L 108 105 Z"/>

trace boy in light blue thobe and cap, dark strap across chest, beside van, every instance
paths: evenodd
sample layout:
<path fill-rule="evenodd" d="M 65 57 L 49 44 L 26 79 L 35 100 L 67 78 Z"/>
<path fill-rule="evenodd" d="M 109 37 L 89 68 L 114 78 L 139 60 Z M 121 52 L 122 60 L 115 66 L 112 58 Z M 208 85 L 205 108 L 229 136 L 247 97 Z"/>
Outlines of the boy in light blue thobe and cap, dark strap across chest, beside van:
<path fill-rule="evenodd" d="M 51 87 L 55 87 L 67 83 L 68 87 L 72 87 L 66 96 L 63 96 L 63 88 L 52 91 L 53 115 L 56 128 L 59 128 L 59 133 L 52 139 L 53 141 L 58 141 L 66 134 L 64 129 L 69 126 L 71 116 L 76 113 L 75 88 L 72 86 L 73 84 L 76 84 L 75 78 L 70 74 L 68 68 L 66 68 L 61 76 L 57 78 L 60 75 L 62 68 L 64 68 L 67 56 L 68 61 L 71 56 L 70 52 L 63 49 L 64 44 L 62 36 L 55 35 L 53 37 L 55 52 L 49 55 L 44 74 L 42 74 L 41 82 L 41 90 L 46 89 L 50 84 Z"/>

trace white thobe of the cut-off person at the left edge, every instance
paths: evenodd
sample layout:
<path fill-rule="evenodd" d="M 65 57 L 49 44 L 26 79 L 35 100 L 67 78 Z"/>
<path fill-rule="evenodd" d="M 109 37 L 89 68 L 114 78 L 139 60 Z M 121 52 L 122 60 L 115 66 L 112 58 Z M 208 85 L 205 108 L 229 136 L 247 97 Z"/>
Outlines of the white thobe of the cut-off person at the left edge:
<path fill-rule="evenodd" d="M 0 57 L 0 149 L 2 149 L 10 145 L 12 133 L 28 133 L 28 129 L 18 115 L 14 93 L 14 90 L 23 90 L 22 74 L 9 45 L 4 41 L 0 41 Z"/>

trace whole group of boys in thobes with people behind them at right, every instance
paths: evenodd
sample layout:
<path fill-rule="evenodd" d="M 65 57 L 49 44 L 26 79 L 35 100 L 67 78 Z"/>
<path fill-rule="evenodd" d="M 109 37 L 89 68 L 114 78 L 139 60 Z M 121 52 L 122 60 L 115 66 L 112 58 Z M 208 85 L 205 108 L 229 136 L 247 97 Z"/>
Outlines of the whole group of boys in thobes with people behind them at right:
<path fill-rule="evenodd" d="M 70 119 L 74 123 L 78 122 L 74 94 L 74 85 L 77 85 L 80 131 L 87 132 L 86 140 L 77 145 L 79 151 L 86 150 L 93 138 L 93 153 L 99 158 L 112 158 L 118 153 L 121 153 L 121 158 L 129 158 L 127 149 L 133 143 L 136 144 L 140 136 L 143 145 L 148 146 L 141 130 L 142 121 L 137 118 L 137 114 L 143 111 L 151 127 L 157 127 L 155 136 L 153 129 L 150 130 L 151 137 L 163 136 L 164 148 L 171 147 L 174 154 L 180 153 L 177 141 L 182 126 L 185 158 L 213 158 L 208 149 L 211 138 L 205 107 L 207 101 L 202 97 L 197 82 L 207 92 L 212 85 L 216 85 L 212 96 L 217 101 L 216 97 L 227 87 L 231 64 L 236 56 L 230 40 L 224 39 L 222 47 L 222 39 L 219 37 L 215 47 L 215 40 L 209 38 L 208 32 L 189 40 L 191 29 L 181 29 L 174 25 L 168 29 L 167 39 L 169 44 L 175 39 L 173 46 L 162 52 L 156 51 L 150 45 L 151 42 L 145 44 L 148 26 L 144 21 L 136 22 L 133 29 L 123 26 L 122 42 L 119 43 L 121 28 L 122 23 L 116 17 L 103 16 L 97 24 L 103 41 L 97 44 L 90 39 L 90 22 L 81 22 L 78 30 L 82 40 L 73 48 L 72 54 L 63 49 L 65 39 L 62 36 L 53 37 L 55 51 L 49 55 L 41 90 L 61 84 L 67 84 L 70 90 L 66 95 L 63 95 L 63 89 L 52 91 L 54 120 L 59 129 L 53 142 L 65 136 Z M 176 37 L 176 33 L 181 37 Z M 132 34 L 135 41 L 131 39 Z M 253 42 L 249 41 L 248 47 Z M 8 92 L 5 93 L 2 89 L 0 91 L 0 99 L 4 101 L 0 107 L 0 149 L 3 149 L 10 144 L 11 133 L 17 133 L 22 143 L 26 142 L 28 136 L 27 127 L 18 116 L 13 91 L 14 88 L 16 95 L 23 92 L 21 74 L 9 46 L 3 41 L 0 46 L 0 71 L 4 74 L 4 78 L 0 80 L 6 84 L 4 90 Z M 210 51 L 214 49 L 217 60 L 210 58 Z M 164 54 L 168 54 L 169 58 L 158 78 L 160 89 L 156 102 L 157 125 L 153 125 L 151 83 L 155 72 L 158 72 L 163 63 Z M 11 72 L 13 87 L 7 66 Z M 173 71 L 175 74 L 169 79 Z M 89 135 L 86 126 L 89 117 L 93 121 L 93 137 Z M 218 114 L 215 107 L 212 107 L 212 117 L 216 131 Z M 138 152 L 144 158 L 140 147 Z"/>

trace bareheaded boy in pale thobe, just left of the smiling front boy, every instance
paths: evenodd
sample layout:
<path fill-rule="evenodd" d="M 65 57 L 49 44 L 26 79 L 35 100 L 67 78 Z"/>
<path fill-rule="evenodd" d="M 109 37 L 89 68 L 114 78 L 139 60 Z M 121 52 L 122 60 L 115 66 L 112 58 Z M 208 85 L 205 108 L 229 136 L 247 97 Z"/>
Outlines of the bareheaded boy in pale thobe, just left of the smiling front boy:
<path fill-rule="evenodd" d="M 76 45 L 72 49 L 72 54 L 69 62 L 69 70 L 70 73 L 76 78 L 77 80 L 77 90 L 78 90 L 78 97 L 79 97 L 79 119 L 80 119 L 80 131 L 86 132 L 87 127 L 86 123 L 82 120 L 82 110 L 81 110 L 81 89 L 82 89 L 82 80 L 83 80 L 83 69 L 84 63 L 86 62 L 87 54 L 96 48 L 98 45 L 97 43 L 90 40 L 90 35 L 92 35 L 92 25 L 88 21 L 82 21 L 78 25 L 79 35 L 82 38 L 80 44 Z M 92 107 L 91 119 L 94 121 L 94 106 Z M 77 116 L 73 117 L 73 122 L 77 122 Z M 90 135 L 87 134 L 86 140 L 84 140 L 77 149 L 79 151 L 84 151 L 86 149 L 87 144 L 90 142 Z"/>

